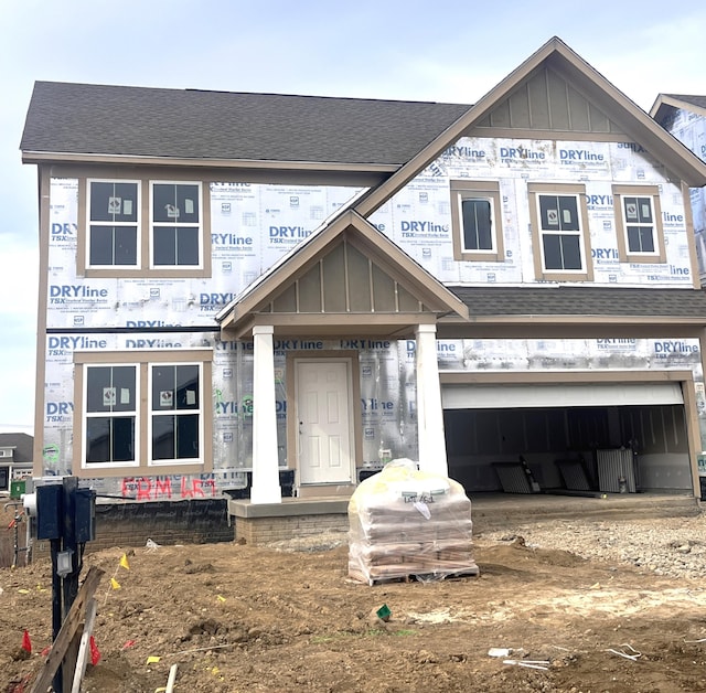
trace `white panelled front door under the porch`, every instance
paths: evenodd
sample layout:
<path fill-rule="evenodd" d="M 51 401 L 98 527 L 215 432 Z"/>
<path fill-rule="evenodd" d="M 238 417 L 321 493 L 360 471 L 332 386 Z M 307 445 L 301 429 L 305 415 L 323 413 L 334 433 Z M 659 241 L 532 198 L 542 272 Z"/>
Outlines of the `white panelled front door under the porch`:
<path fill-rule="evenodd" d="M 351 483 L 355 468 L 350 359 L 296 361 L 300 483 Z"/>

